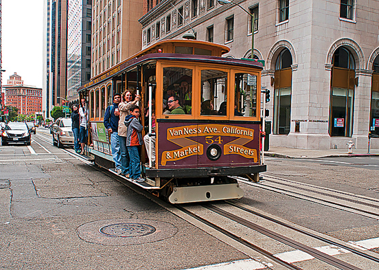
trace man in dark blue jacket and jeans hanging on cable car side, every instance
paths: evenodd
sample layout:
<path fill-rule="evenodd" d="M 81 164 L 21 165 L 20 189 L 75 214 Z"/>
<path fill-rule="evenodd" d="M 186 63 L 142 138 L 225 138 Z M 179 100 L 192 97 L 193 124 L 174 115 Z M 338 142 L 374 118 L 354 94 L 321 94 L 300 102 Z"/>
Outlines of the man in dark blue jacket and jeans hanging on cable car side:
<path fill-rule="evenodd" d="M 108 106 L 104 115 L 104 126 L 108 130 L 111 138 L 111 148 L 113 161 L 115 161 L 116 172 L 121 175 L 121 150 L 119 148 L 118 136 L 118 123 L 119 123 L 119 109 L 118 104 L 121 102 L 121 94 L 116 93 L 113 95 L 113 104 Z"/>

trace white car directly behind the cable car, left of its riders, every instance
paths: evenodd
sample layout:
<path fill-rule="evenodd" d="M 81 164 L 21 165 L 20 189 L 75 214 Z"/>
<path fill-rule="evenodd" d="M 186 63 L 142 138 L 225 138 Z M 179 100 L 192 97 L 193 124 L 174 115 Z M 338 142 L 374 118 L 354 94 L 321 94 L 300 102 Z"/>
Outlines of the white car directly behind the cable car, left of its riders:
<path fill-rule="evenodd" d="M 58 118 L 51 126 L 53 132 L 53 144 L 58 148 L 73 146 L 73 132 L 71 129 L 71 118 Z"/>

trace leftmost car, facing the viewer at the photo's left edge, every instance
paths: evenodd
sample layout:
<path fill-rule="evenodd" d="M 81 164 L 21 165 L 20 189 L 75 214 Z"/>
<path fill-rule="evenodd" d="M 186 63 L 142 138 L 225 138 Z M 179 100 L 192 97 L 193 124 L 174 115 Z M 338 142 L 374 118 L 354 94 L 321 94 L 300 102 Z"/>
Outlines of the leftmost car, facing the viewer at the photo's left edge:
<path fill-rule="evenodd" d="M 5 125 L 4 131 L 1 133 L 1 144 L 6 146 L 13 143 L 24 143 L 30 146 L 30 135 L 27 124 L 20 122 L 12 122 Z"/>

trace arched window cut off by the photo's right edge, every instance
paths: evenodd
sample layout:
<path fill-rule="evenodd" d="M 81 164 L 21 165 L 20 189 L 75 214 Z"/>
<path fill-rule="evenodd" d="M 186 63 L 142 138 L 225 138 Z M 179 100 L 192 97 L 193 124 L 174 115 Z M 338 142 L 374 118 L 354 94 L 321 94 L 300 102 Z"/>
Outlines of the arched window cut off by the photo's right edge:
<path fill-rule="evenodd" d="M 371 113 L 370 113 L 370 131 L 379 135 L 379 56 L 376 56 L 372 65 L 374 73 L 371 79 Z"/>

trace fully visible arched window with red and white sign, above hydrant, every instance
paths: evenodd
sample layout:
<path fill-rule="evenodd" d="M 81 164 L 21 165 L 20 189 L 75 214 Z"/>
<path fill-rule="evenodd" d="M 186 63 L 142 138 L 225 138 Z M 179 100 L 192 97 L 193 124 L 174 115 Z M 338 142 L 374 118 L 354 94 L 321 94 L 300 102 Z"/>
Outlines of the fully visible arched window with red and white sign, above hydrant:
<path fill-rule="evenodd" d="M 339 47 L 332 58 L 329 134 L 352 137 L 354 115 L 355 62 L 345 47 Z"/>

